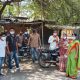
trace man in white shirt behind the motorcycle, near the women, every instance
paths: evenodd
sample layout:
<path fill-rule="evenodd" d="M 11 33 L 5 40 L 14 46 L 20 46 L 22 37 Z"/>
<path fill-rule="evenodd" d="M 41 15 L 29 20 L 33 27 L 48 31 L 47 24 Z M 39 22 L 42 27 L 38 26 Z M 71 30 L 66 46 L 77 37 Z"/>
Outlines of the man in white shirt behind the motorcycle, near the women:
<path fill-rule="evenodd" d="M 51 35 L 48 39 L 48 43 L 50 44 L 49 49 L 54 50 L 58 48 L 58 43 L 59 43 L 59 37 L 57 35 L 57 32 L 54 31 L 53 35 Z"/>

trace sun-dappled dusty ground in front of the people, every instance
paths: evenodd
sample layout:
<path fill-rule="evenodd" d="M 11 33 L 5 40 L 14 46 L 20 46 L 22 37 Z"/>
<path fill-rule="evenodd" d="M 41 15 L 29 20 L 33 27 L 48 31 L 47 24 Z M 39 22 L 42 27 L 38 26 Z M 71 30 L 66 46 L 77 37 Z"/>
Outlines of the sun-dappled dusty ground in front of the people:
<path fill-rule="evenodd" d="M 0 77 L 0 80 L 72 80 L 65 77 L 65 73 L 59 72 L 55 66 L 50 68 L 41 68 L 38 64 L 22 63 L 20 64 L 20 72 L 7 74 Z M 80 72 L 77 80 L 80 80 Z"/>

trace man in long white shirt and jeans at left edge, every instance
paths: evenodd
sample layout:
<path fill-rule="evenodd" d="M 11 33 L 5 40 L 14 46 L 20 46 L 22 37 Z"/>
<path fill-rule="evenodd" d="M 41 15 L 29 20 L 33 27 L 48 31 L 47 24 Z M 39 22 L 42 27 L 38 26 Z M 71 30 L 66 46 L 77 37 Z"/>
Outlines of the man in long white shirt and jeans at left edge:
<path fill-rule="evenodd" d="M 5 58 L 6 51 L 6 37 L 4 33 L 0 34 L 0 75 L 3 75 L 1 72 L 2 64 Z"/>

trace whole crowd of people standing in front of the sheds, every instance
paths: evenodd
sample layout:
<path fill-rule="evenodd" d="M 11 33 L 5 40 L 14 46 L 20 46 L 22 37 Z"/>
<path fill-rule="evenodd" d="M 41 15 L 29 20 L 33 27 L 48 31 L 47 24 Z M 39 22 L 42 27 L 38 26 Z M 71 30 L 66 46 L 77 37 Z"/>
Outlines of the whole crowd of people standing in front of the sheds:
<path fill-rule="evenodd" d="M 76 39 L 76 35 L 73 34 L 68 37 L 66 33 L 63 33 L 59 38 L 57 31 L 54 31 L 49 37 L 48 43 L 49 50 L 59 48 L 59 70 L 66 72 L 67 77 L 77 78 L 78 70 L 80 69 L 80 41 Z M 8 56 L 10 72 L 14 73 L 12 59 L 15 60 L 16 71 L 20 70 L 19 49 L 25 45 L 30 46 L 33 63 L 38 62 L 38 49 L 41 48 L 41 39 L 36 29 L 33 29 L 31 34 L 28 31 L 24 33 L 20 31 L 16 35 L 15 30 L 11 28 L 9 32 L 0 34 L 0 75 L 3 75 L 1 69 L 6 55 Z"/>

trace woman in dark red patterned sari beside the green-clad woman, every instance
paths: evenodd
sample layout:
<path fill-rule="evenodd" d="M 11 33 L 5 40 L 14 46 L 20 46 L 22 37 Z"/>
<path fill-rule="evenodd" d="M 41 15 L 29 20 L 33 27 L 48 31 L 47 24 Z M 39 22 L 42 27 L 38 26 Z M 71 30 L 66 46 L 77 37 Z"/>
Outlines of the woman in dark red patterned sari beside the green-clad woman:
<path fill-rule="evenodd" d="M 67 35 L 64 33 L 63 37 L 60 40 L 60 59 L 59 59 L 59 69 L 61 72 L 65 71 L 66 69 L 66 52 L 67 52 Z"/>

